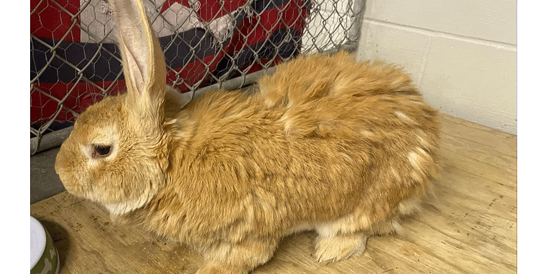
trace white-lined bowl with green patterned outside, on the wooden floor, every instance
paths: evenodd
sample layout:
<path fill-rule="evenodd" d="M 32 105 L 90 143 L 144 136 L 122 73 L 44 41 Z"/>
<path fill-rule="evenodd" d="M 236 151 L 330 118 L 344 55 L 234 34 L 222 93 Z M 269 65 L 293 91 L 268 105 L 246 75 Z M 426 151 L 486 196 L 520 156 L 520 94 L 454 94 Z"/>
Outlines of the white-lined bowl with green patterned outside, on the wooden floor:
<path fill-rule="evenodd" d="M 30 216 L 30 274 L 58 274 L 59 256 L 51 236 Z"/>

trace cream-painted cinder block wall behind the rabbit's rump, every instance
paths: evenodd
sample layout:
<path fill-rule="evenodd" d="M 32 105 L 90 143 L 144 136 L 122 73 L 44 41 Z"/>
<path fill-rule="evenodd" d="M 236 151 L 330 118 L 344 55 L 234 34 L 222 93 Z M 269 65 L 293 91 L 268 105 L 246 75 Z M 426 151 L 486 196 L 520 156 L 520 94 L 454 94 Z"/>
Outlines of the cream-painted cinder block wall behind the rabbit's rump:
<path fill-rule="evenodd" d="M 366 0 L 359 60 L 402 64 L 441 112 L 516 134 L 516 1 Z"/>

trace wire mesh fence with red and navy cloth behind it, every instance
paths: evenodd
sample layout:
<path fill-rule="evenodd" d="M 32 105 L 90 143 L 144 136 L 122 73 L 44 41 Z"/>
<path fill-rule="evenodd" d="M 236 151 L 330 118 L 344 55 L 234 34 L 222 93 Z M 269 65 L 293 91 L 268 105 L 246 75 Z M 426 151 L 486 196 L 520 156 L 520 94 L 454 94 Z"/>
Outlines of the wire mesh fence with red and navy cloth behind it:
<path fill-rule="evenodd" d="M 365 0 L 143 0 L 167 82 L 196 97 L 241 88 L 299 54 L 353 51 Z M 123 92 L 107 0 L 31 0 L 31 155 L 82 110 Z"/>

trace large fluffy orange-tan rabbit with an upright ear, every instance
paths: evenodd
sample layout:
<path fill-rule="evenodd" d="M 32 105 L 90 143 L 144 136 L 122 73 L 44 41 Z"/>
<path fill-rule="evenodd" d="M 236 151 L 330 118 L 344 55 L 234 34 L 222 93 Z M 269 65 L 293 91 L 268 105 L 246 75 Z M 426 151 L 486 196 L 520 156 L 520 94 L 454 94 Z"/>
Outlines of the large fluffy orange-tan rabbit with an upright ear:
<path fill-rule="evenodd" d="M 140 0 L 111 6 L 127 92 L 79 115 L 55 172 L 112 219 L 196 249 L 197 273 L 249 273 L 305 230 L 317 262 L 360 256 L 432 192 L 438 111 L 401 67 L 312 54 L 253 92 L 190 100 L 166 85 Z"/>

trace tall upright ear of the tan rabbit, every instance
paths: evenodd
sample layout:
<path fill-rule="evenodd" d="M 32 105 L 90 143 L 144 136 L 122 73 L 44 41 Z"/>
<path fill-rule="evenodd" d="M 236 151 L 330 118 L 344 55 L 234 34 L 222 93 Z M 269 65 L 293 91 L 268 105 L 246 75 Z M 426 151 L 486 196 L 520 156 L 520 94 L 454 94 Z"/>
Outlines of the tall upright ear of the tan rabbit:
<path fill-rule="evenodd" d="M 166 63 L 141 0 L 110 0 L 120 31 L 119 47 L 129 103 L 138 116 L 161 123 L 166 92 Z"/>

